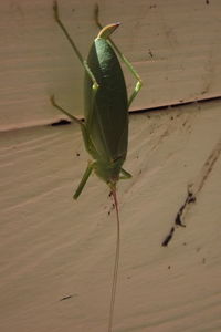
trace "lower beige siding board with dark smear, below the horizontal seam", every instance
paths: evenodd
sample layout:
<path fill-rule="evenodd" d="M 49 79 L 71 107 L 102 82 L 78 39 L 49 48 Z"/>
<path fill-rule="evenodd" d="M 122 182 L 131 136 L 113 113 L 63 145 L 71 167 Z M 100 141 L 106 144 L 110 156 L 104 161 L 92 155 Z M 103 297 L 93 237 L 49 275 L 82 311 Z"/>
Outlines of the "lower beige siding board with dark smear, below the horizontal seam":
<path fill-rule="evenodd" d="M 130 116 L 118 186 L 122 222 L 114 331 L 220 331 L 221 103 Z M 75 125 L 1 134 L 0 324 L 8 332 L 107 329 L 116 220 Z M 187 198 L 182 222 L 161 243 Z"/>

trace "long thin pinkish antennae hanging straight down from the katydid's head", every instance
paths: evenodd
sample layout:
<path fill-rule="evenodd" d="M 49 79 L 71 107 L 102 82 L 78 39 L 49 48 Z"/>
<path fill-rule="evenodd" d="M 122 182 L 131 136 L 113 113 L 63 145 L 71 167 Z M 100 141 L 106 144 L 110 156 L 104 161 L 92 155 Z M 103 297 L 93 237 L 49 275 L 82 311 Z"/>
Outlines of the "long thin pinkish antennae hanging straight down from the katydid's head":
<path fill-rule="evenodd" d="M 115 263 L 114 263 L 114 273 L 113 273 L 113 284 L 112 284 L 112 299 L 109 307 L 109 322 L 108 322 L 108 332 L 112 332 L 113 319 L 114 319 L 114 305 L 115 305 L 115 297 L 116 297 L 116 288 L 117 288 L 117 277 L 118 277 L 118 266 L 119 266 L 119 248 L 120 248 L 120 225 L 119 225 L 119 210 L 118 210 L 118 201 L 116 187 L 112 188 L 112 196 L 114 199 L 116 219 L 117 219 L 117 238 L 116 238 L 116 251 L 115 251 Z"/>

